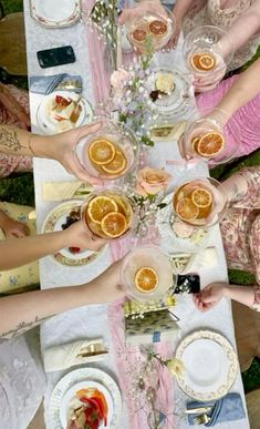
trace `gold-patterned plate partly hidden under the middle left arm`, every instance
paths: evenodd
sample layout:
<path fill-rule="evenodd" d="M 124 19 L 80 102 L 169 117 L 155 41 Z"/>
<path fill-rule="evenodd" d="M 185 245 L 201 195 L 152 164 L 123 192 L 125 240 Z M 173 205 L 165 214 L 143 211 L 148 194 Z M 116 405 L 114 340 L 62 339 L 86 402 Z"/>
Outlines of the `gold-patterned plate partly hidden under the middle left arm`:
<path fill-rule="evenodd" d="M 74 207 L 80 207 L 82 205 L 82 200 L 72 200 L 55 206 L 45 217 L 41 233 L 52 233 L 53 231 L 62 231 L 62 224 L 66 222 L 66 216 Z M 98 256 L 102 255 L 106 246 L 104 246 L 100 252 L 92 251 L 82 251 L 80 253 L 73 254 L 69 248 L 63 248 L 58 252 L 54 259 L 67 266 L 82 266 L 94 262 Z"/>

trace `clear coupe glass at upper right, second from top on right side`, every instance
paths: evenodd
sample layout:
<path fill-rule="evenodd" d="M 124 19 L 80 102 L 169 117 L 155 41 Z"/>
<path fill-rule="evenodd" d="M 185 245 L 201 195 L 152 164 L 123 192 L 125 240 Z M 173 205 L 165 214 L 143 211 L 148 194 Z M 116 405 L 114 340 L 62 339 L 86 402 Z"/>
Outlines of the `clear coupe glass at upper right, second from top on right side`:
<path fill-rule="evenodd" d="M 184 59 L 187 69 L 190 70 L 195 79 L 207 76 L 208 83 L 219 82 L 233 57 L 233 49 L 223 57 L 222 45 L 229 41 L 229 37 L 225 30 L 214 25 L 196 27 L 185 38 L 184 41 Z M 193 65 L 191 59 L 195 54 L 209 54 L 215 58 L 216 64 L 210 70 L 198 70 Z"/>

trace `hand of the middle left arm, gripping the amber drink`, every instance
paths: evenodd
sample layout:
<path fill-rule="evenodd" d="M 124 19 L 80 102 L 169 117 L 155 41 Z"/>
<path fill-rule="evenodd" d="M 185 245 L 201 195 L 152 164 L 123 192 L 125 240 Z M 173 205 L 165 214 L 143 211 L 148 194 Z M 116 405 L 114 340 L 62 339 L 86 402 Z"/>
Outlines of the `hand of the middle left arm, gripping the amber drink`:
<path fill-rule="evenodd" d="M 64 234 L 64 243 L 67 247 L 80 247 L 81 249 L 98 252 L 106 244 L 105 239 L 93 237 L 86 231 L 83 221 L 75 222 L 64 229 L 62 234 Z"/>

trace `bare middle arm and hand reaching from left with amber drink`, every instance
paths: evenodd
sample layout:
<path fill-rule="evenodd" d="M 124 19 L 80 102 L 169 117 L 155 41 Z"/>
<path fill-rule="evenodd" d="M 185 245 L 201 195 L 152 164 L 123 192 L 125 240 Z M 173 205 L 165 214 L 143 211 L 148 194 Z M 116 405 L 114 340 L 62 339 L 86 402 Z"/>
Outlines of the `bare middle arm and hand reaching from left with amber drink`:
<path fill-rule="evenodd" d="M 0 242 L 0 270 L 17 268 L 46 255 L 53 255 L 64 247 L 97 251 L 104 243 L 103 239 L 92 238 L 81 221 L 64 231 L 4 239 Z"/>

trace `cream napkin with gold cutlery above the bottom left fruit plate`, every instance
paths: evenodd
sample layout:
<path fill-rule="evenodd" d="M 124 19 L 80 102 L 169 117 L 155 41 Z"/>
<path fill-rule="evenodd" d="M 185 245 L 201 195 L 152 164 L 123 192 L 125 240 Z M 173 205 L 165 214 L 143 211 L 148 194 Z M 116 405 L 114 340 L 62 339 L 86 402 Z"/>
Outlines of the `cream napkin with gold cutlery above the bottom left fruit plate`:
<path fill-rule="evenodd" d="M 93 353 L 95 355 L 91 356 Z M 58 371 L 74 365 L 102 360 L 106 354 L 107 350 L 102 338 L 79 340 L 50 347 L 43 355 L 44 370 L 45 372 Z"/>

